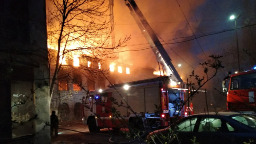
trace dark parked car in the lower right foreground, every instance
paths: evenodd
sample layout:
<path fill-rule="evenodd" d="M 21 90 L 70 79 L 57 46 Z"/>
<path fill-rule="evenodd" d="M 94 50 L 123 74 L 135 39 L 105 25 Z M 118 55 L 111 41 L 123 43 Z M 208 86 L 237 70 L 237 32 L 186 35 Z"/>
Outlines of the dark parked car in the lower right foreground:
<path fill-rule="evenodd" d="M 151 132 L 147 140 L 155 144 L 256 144 L 256 117 L 236 112 L 194 114 Z"/>

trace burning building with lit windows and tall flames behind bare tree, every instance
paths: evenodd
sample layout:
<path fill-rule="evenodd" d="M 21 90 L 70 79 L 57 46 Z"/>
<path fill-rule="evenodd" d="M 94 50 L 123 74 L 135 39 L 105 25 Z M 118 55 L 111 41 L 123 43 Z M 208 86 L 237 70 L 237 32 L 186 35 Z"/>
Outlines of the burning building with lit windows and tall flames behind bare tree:
<path fill-rule="evenodd" d="M 69 7 L 46 1 L 47 9 L 52 9 L 47 15 L 50 109 L 56 110 L 60 121 L 80 120 L 84 116 L 81 102 L 89 90 L 156 77 L 153 68 L 138 68 L 120 60 L 117 48 L 123 48 L 130 38 L 114 39 L 108 1 L 92 3 L 88 7 L 84 3 L 78 10 L 82 17 L 74 18 L 72 16 L 80 16 L 76 15 L 78 11 L 70 11 L 62 17 L 54 8 L 60 6 L 67 12 Z M 94 9 L 98 12 L 96 15 L 86 10 L 93 6 L 100 6 L 99 11 Z"/>

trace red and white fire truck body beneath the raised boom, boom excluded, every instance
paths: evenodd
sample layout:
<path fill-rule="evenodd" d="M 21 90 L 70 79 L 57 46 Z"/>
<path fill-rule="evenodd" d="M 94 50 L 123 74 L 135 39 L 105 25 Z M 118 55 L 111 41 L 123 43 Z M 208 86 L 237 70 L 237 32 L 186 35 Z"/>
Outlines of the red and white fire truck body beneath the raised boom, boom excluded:
<path fill-rule="evenodd" d="M 84 100 L 92 112 L 84 117 L 90 132 L 100 128 L 127 128 L 128 123 L 137 123 L 143 128 L 162 128 L 172 119 L 186 116 L 182 106 L 185 90 L 180 84 L 171 85 L 170 76 L 114 84 L 90 93 Z"/>

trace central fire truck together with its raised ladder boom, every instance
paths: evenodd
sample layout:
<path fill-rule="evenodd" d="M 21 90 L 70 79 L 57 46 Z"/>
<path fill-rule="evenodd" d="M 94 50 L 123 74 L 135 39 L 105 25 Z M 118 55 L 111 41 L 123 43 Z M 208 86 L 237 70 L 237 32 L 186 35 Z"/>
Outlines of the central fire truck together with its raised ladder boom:
<path fill-rule="evenodd" d="M 150 44 L 164 76 L 113 84 L 108 89 L 90 92 L 83 98 L 84 106 L 91 112 L 90 116 L 83 118 L 90 132 L 97 132 L 100 128 L 127 128 L 127 124 L 162 128 L 172 120 L 186 116 L 186 84 L 134 0 L 125 0 L 125 4 Z"/>

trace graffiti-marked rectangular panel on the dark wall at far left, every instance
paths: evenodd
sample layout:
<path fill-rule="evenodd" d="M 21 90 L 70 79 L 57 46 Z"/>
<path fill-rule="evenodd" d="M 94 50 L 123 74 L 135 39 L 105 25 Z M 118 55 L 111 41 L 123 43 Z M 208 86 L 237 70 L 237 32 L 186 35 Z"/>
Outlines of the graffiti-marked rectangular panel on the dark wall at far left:
<path fill-rule="evenodd" d="M 34 134 L 34 93 L 31 90 L 31 81 L 12 81 L 12 138 Z"/>

